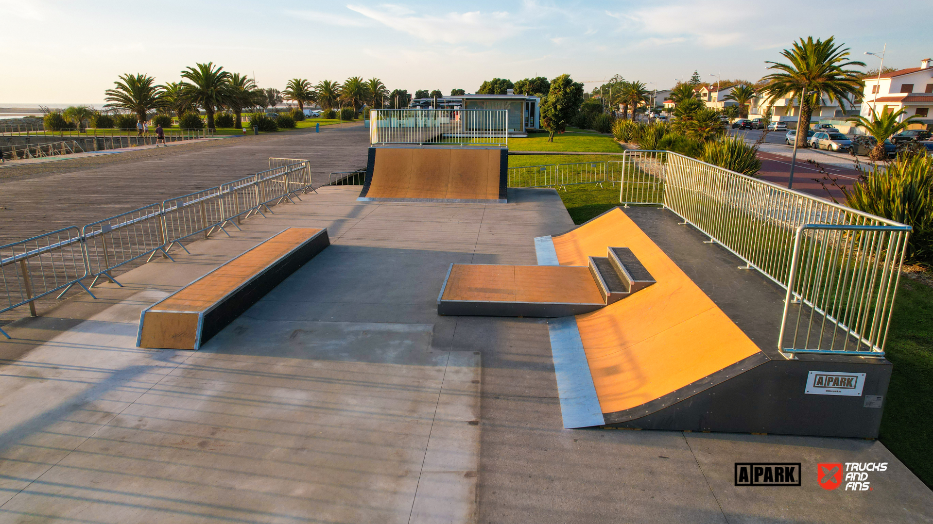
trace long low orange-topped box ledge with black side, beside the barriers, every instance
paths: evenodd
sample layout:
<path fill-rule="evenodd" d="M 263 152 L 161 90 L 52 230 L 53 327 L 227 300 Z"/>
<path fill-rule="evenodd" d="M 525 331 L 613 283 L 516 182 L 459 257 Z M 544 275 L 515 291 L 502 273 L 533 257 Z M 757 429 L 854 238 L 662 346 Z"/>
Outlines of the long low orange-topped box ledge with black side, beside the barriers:
<path fill-rule="evenodd" d="M 137 345 L 199 349 L 329 243 L 327 229 L 285 229 L 143 310 Z"/>

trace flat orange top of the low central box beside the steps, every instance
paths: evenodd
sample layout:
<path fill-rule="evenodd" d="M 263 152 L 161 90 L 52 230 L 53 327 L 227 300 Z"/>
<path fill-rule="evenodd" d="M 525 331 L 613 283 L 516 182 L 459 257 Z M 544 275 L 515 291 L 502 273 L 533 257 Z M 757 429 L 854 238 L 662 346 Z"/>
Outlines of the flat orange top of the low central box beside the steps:
<path fill-rule="evenodd" d="M 441 299 L 604 303 L 589 268 L 565 266 L 454 264 Z"/>

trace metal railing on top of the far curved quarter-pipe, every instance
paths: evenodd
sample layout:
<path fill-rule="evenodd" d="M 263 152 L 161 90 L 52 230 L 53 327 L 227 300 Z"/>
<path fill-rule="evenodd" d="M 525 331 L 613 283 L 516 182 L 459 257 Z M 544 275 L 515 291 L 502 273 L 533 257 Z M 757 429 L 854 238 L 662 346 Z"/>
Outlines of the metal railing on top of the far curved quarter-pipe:
<path fill-rule="evenodd" d="M 508 145 L 508 109 L 373 109 L 371 145 Z"/>

